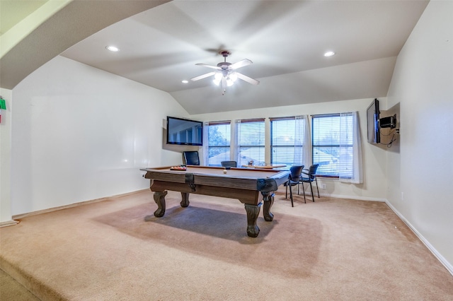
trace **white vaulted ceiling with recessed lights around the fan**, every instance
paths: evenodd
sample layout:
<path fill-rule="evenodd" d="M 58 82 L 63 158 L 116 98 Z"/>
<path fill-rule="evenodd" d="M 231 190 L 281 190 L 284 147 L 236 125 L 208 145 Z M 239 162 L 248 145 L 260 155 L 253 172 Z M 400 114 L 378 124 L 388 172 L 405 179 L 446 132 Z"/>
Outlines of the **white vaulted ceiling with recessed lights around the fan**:
<path fill-rule="evenodd" d="M 81 1 L 82 3 L 84 1 Z M 85 1 L 89 2 L 91 1 Z M 62 56 L 173 95 L 190 114 L 387 95 L 428 1 L 170 1 L 86 37 Z M 80 4 L 79 4 L 80 5 Z M 115 45 L 120 52 L 108 52 Z M 226 89 L 197 63 L 251 59 Z M 327 50 L 336 55 L 323 57 Z"/>

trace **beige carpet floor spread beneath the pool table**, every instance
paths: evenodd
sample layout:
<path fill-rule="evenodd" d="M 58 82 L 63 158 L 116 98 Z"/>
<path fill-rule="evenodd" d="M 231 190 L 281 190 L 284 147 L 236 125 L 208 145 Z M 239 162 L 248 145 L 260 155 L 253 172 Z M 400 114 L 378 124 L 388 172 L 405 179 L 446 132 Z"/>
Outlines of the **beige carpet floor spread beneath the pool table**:
<path fill-rule="evenodd" d="M 292 208 L 278 191 L 251 238 L 239 201 L 166 200 L 163 218 L 149 190 L 22 218 L 0 228 L 0 268 L 41 300 L 453 300 L 453 276 L 385 203 Z"/>

